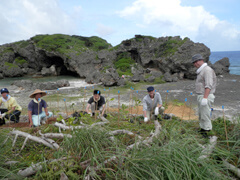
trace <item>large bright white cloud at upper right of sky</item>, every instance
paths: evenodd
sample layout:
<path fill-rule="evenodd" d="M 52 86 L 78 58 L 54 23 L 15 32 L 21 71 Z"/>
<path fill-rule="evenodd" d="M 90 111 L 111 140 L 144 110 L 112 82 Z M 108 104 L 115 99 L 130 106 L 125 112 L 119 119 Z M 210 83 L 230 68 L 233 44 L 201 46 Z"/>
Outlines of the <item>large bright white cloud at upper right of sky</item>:
<path fill-rule="evenodd" d="M 193 41 L 208 42 L 206 45 L 213 50 L 219 48 L 214 41 L 230 44 L 240 38 L 240 31 L 232 24 L 219 20 L 202 6 L 182 6 L 180 0 L 136 0 L 117 13 L 154 34 L 188 36 Z"/>

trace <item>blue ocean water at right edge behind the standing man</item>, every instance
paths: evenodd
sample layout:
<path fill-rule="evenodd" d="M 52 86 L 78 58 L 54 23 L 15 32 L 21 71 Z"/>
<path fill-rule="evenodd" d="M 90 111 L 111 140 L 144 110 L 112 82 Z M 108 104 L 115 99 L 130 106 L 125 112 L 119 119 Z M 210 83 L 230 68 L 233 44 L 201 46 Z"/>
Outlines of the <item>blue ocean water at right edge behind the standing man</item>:
<path fill-rule="evenodd" d="M 240 75 L 240 51 L 215 51 L 211 52 L 209 60 L 212 64 L 216 61 L 228 57 L 230 62 L 230 74 Z"/>

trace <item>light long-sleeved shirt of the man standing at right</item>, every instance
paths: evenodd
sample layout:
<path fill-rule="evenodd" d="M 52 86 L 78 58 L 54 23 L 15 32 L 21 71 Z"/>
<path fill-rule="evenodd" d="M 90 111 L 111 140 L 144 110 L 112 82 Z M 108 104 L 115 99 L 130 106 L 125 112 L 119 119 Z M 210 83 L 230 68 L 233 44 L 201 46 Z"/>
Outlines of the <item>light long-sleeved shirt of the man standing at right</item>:
<path fill-rule="evenodd" d="M 196 93 L 204 95 L 205 88 L 211 89 L 210 94 L 216 91 L 217 77 L 212 68 L 205 66 L 197 75 Z"/>

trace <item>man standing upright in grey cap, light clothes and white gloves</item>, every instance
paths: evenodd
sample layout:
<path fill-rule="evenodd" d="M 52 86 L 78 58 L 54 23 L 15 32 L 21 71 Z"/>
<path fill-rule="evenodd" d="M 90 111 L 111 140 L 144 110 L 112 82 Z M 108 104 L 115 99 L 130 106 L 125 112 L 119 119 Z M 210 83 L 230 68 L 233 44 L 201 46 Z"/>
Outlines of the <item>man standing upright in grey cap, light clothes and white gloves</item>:
<path fill-rule="evenodd" d="M 214 103 L 217 77 L 214 70 L 204 62 L 201 54 L 192 56 L 193 65 L 197 69 L 196 93 L 198 102 L 198 114 L 200 133 L 207 137 L 207 132 L 212 130 L 210 119 L 211 107 Z"/>

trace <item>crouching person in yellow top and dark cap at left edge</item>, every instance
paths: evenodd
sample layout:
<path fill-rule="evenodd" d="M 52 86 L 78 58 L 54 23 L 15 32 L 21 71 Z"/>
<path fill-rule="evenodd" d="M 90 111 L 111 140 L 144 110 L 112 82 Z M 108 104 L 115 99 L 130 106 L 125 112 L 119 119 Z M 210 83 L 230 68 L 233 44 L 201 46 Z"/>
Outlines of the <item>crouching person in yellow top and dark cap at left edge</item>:
<path fill-rule="evenodd" d="M 0 125 L 5 124 L 5 119 L 18 123 L 22 107 L 17 103 L 14 97 L 9 95 L 7 88 L 1 89 L 1 95 L 0 106 L 4 104 L 5 109 L 0 109 Z"/>

